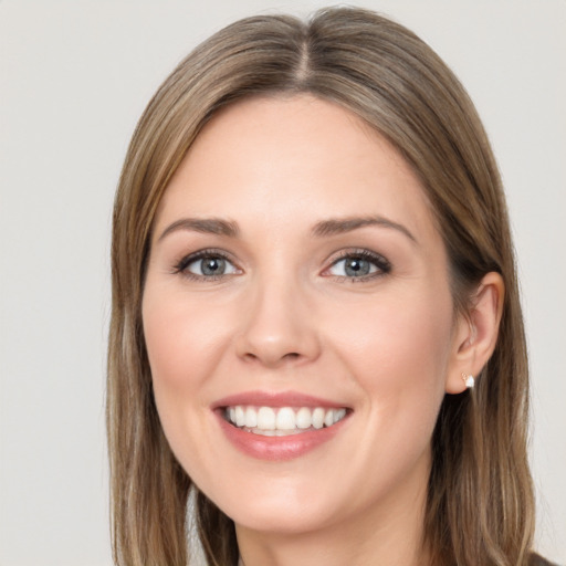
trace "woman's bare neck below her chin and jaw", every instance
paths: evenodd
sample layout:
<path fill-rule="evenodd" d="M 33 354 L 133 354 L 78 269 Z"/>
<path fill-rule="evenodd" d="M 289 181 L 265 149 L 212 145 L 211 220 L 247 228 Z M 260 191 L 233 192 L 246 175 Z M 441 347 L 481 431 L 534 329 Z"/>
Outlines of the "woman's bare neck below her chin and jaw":
<path fill-rule="evenodd" d="M 412 485 L 355 521 L 345 517 L 306 533 L 266 533 L 237 525 L 242 566 L 426 566 L 427 485 Z"/>

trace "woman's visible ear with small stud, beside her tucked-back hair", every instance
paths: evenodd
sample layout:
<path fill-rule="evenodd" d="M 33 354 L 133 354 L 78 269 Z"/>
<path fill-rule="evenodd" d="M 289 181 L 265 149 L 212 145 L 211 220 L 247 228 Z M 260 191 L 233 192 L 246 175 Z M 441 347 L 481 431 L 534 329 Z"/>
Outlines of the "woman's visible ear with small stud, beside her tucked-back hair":
<path fill-rule="evenodd" d="M 488 273 L 471 298 L 468 313 L 455 324 L 446 391 L 460 394 L 467 386 L 462 374 L 478 377 L 488 363 L 495 344 L 503 311 L 505 285 L 499 273 Z"/>

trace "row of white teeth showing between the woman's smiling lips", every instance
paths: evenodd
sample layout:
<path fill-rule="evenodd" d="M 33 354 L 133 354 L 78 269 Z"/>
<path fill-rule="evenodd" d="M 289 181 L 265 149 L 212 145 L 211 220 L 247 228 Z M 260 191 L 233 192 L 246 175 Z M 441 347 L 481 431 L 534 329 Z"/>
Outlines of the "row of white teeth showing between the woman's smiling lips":
<path fill-rule="evenodd" d="M 224 419 L 234 427 L 263 437 L 287 437 L 332 427 L 343 420 L 345 407 L 255 407 L 235 405 L 223 408 Z"/>

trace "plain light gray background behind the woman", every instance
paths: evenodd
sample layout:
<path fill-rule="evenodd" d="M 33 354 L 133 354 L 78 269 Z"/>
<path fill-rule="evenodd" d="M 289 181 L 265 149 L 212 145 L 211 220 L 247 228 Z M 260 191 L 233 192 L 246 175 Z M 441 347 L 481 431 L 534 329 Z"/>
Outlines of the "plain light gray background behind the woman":
<path fill-rule="evenodd" d="M 0 564 L 109 565 L 113 192 L 136 120 L 199 41 L 319 1 L 0 1 Z M 566 2 L 367 0 L 475 101 L 503 172 L 533 374 L 539 549 L 566 564 Z"/>

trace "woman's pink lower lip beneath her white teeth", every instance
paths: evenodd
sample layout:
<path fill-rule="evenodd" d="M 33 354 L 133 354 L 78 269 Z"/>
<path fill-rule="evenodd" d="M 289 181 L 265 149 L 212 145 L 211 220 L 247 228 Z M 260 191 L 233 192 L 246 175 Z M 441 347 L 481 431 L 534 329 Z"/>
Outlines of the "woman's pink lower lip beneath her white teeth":
<path fill-rule="evenodd" d="M 271 461 L 292 460 L 311 452 L 332 440 L 347 420 L 346 416 L 332 427 L 287 437 L 263 437 L 230 424 L 220 412 L 217 412 L 217 417 L 223 433 L 237 449 L 252 458 Z"/>

